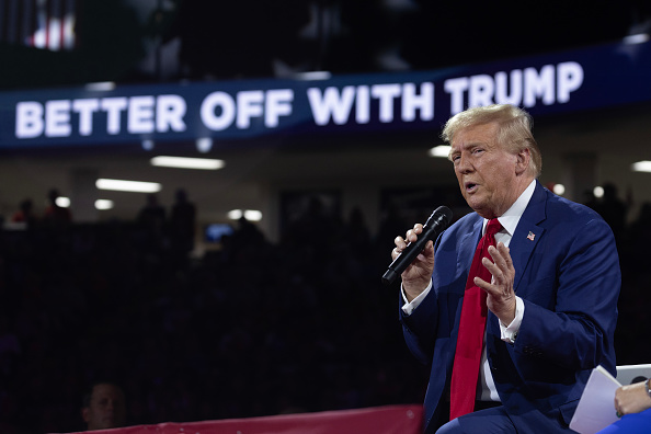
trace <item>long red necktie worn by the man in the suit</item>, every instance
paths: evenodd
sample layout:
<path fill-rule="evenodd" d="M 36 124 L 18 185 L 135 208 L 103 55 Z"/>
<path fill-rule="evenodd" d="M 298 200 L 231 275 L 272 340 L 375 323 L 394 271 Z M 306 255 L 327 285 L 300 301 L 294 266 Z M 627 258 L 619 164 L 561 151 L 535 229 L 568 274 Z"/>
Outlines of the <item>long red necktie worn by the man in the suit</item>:
<path fill-rule="evenodd" d="M 475 285 L 475 277 L 491 282 L 491 273 L 481 263 L 482 258 L 491 259 L 488 253 L 489 245 L 495 245 L 495 233 L 502 225 L 496 218 L 489 220 L 486 233 L 479 241 L 470 273 L 466 282 L 466 293 L 461 307 L 461 319 L 459 322 L 459 335 L 457 338 L 457 351 L 450 382 L 450 421 L 460 415 L 471 413 L 475 410 L 477 391 L 477 379 L 479 376 L 479 364 L 483 347 L 483 330 L 488 308 L 486 306 L 487 294 L 479 286 Z"/>

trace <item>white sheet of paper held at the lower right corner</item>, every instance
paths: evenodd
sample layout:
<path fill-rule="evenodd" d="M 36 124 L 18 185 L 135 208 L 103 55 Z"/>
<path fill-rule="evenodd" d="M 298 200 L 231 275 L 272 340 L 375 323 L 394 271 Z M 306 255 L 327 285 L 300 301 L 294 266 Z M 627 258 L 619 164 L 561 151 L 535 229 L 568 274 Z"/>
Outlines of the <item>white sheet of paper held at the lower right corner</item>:
<path fill-rule="evenodd" d="M 615 391 L 621 385 L 601 365 L 592 370 L 581 396 L 570 427 L 581 434 L 594 434 L 618 418 L 615 411 Z"/>

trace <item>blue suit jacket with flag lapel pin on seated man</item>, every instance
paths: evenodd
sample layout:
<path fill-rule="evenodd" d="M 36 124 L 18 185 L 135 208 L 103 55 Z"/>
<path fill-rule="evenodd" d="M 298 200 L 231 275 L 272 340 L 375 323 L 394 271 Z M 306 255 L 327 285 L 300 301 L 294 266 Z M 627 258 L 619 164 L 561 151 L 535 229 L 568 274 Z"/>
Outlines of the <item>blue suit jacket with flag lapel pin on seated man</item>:
<path fill-rule="evenodd" d="M 439 403 L 449 399 L 461 302 L 482 222 L 471 213 L 438 237 L 432 290 L 411 316 L 400 310 L 410 351 L 432 365 L 424 403 L 427 432 L 449 418 Z M 569 424 L 592 368 L 601 364 L 615 374 L 621 281 L 615 239 L 595 212 L 536 182 L 510 251 L 524 319 L 510 344 L 500 339 L 499 320 L 489 311 L 488 359 L 518 433 L 555 432 L 558 423 L 546 424 L 559 418 Z"/>

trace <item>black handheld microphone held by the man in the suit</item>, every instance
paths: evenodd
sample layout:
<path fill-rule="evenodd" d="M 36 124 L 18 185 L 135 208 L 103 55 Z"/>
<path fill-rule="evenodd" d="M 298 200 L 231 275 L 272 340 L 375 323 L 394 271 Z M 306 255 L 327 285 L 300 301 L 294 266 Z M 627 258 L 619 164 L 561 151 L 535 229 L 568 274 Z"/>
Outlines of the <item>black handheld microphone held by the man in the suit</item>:
<path fill-rule="evenodd" d="M 399 274 L 402 274 L 409 264 L 411 264 L 423 251 L 427 241 L 434 241 L 436 237 L 438 237 L 438 233 L 443 232 L 448 227 L 450 220 L 452 210 L 449 210 L 448 207 L 439 206 L 436 208 L 430 218 L 427 218 L 419 239 L 415 242 L 407 244 L 402 253 L 391 262 L 389 269 L 382 276 L 382 283 L 389 285 Z"/>

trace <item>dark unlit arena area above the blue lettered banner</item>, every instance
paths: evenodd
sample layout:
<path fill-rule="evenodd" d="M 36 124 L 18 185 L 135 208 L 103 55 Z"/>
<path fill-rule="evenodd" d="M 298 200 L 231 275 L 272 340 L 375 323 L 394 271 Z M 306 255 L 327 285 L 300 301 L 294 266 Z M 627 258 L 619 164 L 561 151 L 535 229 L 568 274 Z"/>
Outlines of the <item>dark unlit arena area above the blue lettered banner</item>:
<path fill-rule="evenodd" d="M 10 0 L 4 0 L 4 3 Z M 644 28 L 643 0 L 77 0 L 72 50 L 0 46 L 3 89 L 87 82 L 426 70 L 615 42 Z M 136 12 L 147 4 L 147 12 Z M 7 36 L 3 37 L 7 41 Z M 172 65 L 146 55 L 179 43 Z M 387 53 L 393 56 L 388 60 Z M 156 56 L 153 56 L 156 59 Z M 286 68 L 279 71 L 274 61 Z"/>

